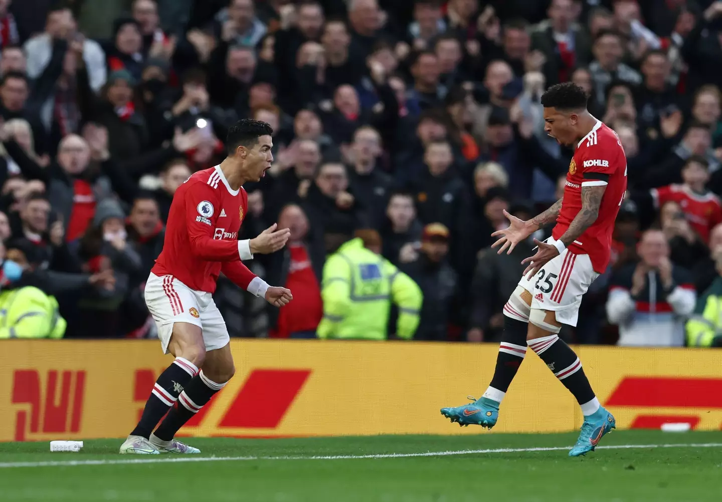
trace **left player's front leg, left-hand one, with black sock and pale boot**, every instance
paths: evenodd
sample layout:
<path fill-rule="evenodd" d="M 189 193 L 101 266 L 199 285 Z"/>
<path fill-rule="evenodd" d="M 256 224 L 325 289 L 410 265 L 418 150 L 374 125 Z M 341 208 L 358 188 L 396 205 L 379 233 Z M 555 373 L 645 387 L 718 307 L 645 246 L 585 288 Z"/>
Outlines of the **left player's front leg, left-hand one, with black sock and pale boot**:
<path fill-rule="evenodd" d="M 175 322 L 168 352 L 175 356 L 175 360 L 158 376 L 141 419 L 121 446 L 121 453 L 158 453 L 157 446 L 149 441 L 153 428 L 175 405 L 183 387 L 191 382 L 204 364 L 206 348 L 201 328 L 188 322 Z"/>

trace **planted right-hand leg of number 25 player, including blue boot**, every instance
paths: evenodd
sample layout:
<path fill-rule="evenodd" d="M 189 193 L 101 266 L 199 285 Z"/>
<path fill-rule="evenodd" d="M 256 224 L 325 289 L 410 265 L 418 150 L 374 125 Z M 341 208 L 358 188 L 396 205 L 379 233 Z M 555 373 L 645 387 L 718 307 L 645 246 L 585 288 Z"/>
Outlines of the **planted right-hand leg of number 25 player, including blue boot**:
<path fill-rule="evenodd" d="M 599 405 L 576 353 L 559 338 L 562 325 L 555 312 L 531 309 L 526 343 L 544 361 L 579 403 L 584 423 L 570 457 L 593 451 L 604 434 L 615 427 L 614 417 Z"/>

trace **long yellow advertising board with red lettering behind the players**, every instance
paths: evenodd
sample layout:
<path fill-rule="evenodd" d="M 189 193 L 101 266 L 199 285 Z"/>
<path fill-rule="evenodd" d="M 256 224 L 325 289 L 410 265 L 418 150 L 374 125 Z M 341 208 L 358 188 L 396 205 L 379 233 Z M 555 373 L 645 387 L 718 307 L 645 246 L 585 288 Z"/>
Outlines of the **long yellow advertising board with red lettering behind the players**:
<path fill-rule="evenodd" d="M 474 434 L 439 409 L 479 397 L 497 345 L 233 340 L 236 374 L 183 428 L 193 436 Z M 722 426 L 722 365 L 713 349 L 578 347 L 619 428 Z M 152 340 L 0 342 L 0 441 L 123 437 L 172 361 Z M 573 397 L 533 353 L 495 432 L 578 428 Z"/>

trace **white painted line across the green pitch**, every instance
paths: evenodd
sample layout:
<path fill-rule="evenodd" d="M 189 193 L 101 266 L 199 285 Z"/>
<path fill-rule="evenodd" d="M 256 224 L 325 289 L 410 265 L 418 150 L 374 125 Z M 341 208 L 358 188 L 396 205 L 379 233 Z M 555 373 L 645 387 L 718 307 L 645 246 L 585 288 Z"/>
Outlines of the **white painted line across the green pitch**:
<path fill-rule="evenodd" d="M 647 449 L 647 448 L 719 448 L 722 443 L 692 443 L 692 444 L 614 444 L 597 446 L 597 449 Z M 380 453 L 370 455 L 314 455 L 309 457 L 169 457 L 142 458 L 142 459 L 99 459 L 99 460 L 69 460 L 51 462 L 1 462 L 0 469 L 9 467 L 74 467 L 77 465 L 119 465 L 119 464 L 166 464 L 170 462 L 242 462 L 248 460 L 352 460 L 352 459 L 404 459 L 409 457 L 448 457 L 451 455 L 473 455 L 484 453 L 523 453 L 523 452 L 556 452 L 567 450 L 569 446 L 553 446 L 549 448 L 496 448 L 477 450 L 456 450 L 447 452 L 422 453 Z"/>

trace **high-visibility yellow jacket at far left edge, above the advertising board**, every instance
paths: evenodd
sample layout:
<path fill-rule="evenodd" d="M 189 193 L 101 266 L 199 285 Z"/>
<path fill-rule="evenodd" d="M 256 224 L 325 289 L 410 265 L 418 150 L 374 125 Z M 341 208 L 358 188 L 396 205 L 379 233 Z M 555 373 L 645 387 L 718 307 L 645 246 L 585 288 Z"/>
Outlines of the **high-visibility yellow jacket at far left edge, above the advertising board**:
<path fill-rule="evenodd" d="M 0 291 L 0 339 L 63 338 L 58 301 L 32 286 Z"/>

